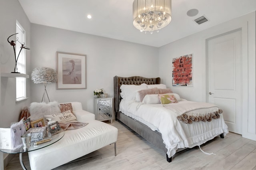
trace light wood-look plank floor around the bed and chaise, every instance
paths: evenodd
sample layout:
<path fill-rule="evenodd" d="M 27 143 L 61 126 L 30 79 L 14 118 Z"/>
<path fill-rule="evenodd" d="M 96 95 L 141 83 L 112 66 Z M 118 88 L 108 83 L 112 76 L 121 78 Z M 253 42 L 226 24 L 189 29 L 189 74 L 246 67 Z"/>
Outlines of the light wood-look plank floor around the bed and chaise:
<path fill-rule="evenodd" d="M 216 155 L 204 154 L 196 146 L 176 154 L 168 163 L 162 150 L 130 128 L 118 121 L 111 125 L 118 128 L 117 156 L 114 156 L 112 144 L 54 170 L 256 170 L 256 141 L 238 134 L 230 132 L 224 139 L 217 136 L 201 145 L 204 152 Z M 30 169 L 27 154 L 23 158 Z M 22 170 L 18 154 L 5 170 Z"/>

